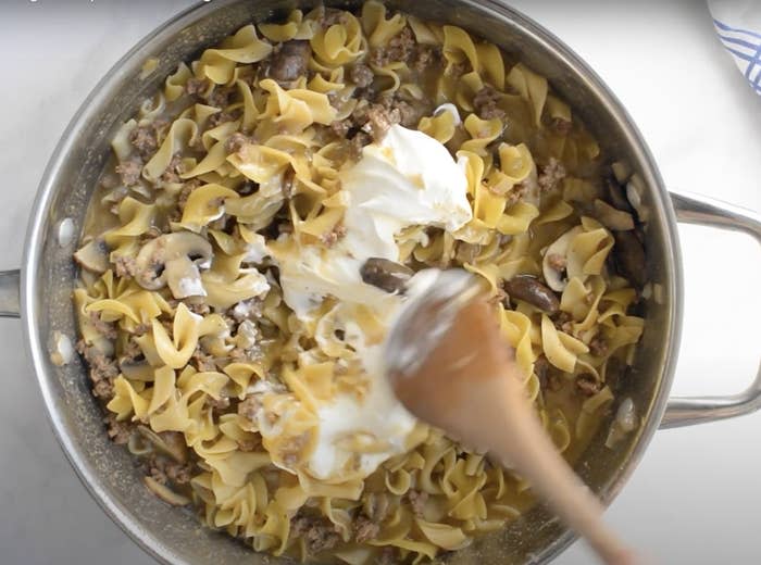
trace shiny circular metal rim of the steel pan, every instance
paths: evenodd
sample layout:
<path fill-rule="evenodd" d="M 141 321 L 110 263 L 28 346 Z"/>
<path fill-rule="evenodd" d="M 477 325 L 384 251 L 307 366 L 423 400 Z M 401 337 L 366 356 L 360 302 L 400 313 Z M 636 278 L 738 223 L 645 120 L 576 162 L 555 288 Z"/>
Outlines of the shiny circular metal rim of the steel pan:
<path fill-rule="evenodd" d="M 100 507 L 133 539 L 133 541 L 135 541 L 135 543 L 142 548 L 144 551 L 159 562 L 167 564 L 183 563 L 183 560 L 170 547 L 163 543 L 154 532 L 142 528 L 139 522 L 132 518 L 128 508 L 109 494 L 109 491 L 104 488 L 98 474 L 87 463 L 83 449 L 72 440 L 68 434 L 66 422 L 62 417 L 63 410 L 60 405 L 62 401 L 53 391 L 54 379 L 46 367 L 48 351 L 37 332 L 36 321 L 40 315 L 39 305 L 37 303 L 37 281 L 39 280 L 39 273 L 41 271 L 40 263 L 45 244 L 46 227 L 51 227 L 48 224 L 50 222 L 51 204 L 55 196 L 54 188 L 58 172 L 68 158 L 72 147 L 76 142 L 84 124 L 87 123 L 87 118 L 95 113 L 96 109 L 101 108 L 101 105 L 111 98 L 111 90 L 113 90 L 114 86 L 127 74 L 126 70 L 129 68 L 129 72 L 132 72 L 130 67 L 141 64 L 147 54 L 150 53 L 150 48 L 153 43 L 167 37 L 176 36 L 183 28 L 203 15 L 223 9 L 228 4 L 236 3 L 237 1 L 238 0 L 216 0 L 212 3 L 201 0 L 190 8 L 183 10 L 142 37 L 129 51 L 114 63 L 108 73 L 98 81 L 61 135 L 61 139 L 45 168 L 33 204 L 26 231 L 24 256 L 22 260 L 21 307 L 22 324 L 27 338 L 25 342 L 42 393 L 46 412 L 52 430 L 79 480 Z M 670 297 L 670 309 L 666 313 L 669 332 L 665 336 L 665 362 L 660 379 L 656 386 L 653 401 L 651 401 L 647 414 L 644 415 L 645 425 L 640 428 L 634 448 L 629 452 L 626 463 L 615 477 L 615 480 L 602 492 L 601 500 L 607 506 L 619 494 L 631 474 L 637 467 L 653 434 L 658 429 L 666 407 L 669 391 L 674 378 L 682 332 L 684 289 L 675 212 L 669 192 L 663 185 L 658 166 L 639 129 L 636 127 L 617 97 L 581 56 L 547 28 L 516 9 L 509 7 L 506 3 L 507 0 L 460 1 L 464 4 L 475 5 L 483 12 L 490 12 L 492 16 L 499 20 L 512 20 L 522 28 L 524 34 L 532 36 L 535 41 L 542 43 L 545 49 L 547 49 L 552 56 L 557 58 L 569 67 L 574 68 L 583 76 L 586 83 L 585 88 L 592 90 L 595 95 L 604 102 L 606 111 L 614 116 L 622 125 L 627 137 L 626 141 L 628 146 L 633 149 L 638 162 L 644 165 L 643 173 L 646 177 L 646 184 L 653 189 L 651 194 L 653 215 L 650 222 L 657 222 L 662 226 L 664 242 L 668 246 L 664 255 L 668 263 L 665 265 L 668 271 L 665 278 L 668 286 L 665 291 Z M 577 536 L 573 531 L 566 530 L 550 547 L 542 551 L 540 555 L 533 557 L 531 563 L 538 563 L 538 560 L 542 562 L 545 560 L 551 561 L 562 553 L 576 538 Z"/>

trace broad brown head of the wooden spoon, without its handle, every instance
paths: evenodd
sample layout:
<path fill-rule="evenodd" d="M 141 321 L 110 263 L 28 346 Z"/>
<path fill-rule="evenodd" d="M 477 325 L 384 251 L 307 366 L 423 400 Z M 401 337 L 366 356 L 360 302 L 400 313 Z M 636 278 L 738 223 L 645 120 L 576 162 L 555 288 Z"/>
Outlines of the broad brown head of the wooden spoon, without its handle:
<path fill-rule="evenodd" d="M 434 296 L 436 291 L 434 286 Z M 514 352 L 500 336 L 494 306 L 483 292 L 450 298 L 449 315 L 442 307 L 440 301 L 424 297 L 409 312 L 414 323 L 395 325 L 394 335 L 401 336 L 408 349 L 421 341 L 421 332 L 429 332 L 424 337 L 432 342 L 410 356 L 411 363 L 389 363 L 388 378 L 397 398 L 415 416 L 474 449 L 486 449 L 488 430 L 502 425 L 509 410 L 504 377 L 517 375 Z M 514 385 L 520 395 L 519 378 Z"/>

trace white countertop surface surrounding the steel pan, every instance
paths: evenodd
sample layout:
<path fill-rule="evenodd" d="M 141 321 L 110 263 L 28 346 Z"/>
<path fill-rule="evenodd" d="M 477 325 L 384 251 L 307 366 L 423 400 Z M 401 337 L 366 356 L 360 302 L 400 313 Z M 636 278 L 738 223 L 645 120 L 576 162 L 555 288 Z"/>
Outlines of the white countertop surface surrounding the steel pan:
<path fill-rule="evenodd" d="M 0 15 L 0 268 L 20 263 L 59 135 L 135 41 L 191 2 L 14 0 Z M 713 37 L 701 1 L 515 0 L 617 93 L 670 187 L 761 210 L 761 98 Z M 685 331 L 675 391 L 738 391 L 758 367 L 758 246 L 681 229 Z M 0 322 L 0 562 L 150 564 L 79 485 L 45 416 L 21 326 Z M 653 563 L 759 563 L 761 414 L 657 434 L 608 513 Z M 576 543 L 557 563 L 590 563 Z"/>

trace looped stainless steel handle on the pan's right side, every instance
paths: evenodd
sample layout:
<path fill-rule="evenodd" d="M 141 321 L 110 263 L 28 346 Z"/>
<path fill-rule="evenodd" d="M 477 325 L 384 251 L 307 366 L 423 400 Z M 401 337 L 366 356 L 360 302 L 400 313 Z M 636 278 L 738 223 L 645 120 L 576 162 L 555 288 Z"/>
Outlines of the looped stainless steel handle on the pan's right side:
<path fill-rule="evenodd" d="M 761 243 L 761 215 L 703 196 L 671 192 L 676 221 L 743 231 Z M 741 416 L 761 407 L 761 367 L 743 392 L 727 397 L 669 399 L 661 428 L 676 428 Z"/>

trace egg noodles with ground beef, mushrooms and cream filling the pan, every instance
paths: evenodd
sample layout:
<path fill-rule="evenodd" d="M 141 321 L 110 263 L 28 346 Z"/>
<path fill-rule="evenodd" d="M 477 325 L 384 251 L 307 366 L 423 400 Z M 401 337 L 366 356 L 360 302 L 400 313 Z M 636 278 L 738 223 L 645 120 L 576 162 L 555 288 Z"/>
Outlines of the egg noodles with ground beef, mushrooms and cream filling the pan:
<path fill-rule="evenodd" d="M 469 32 L 375 1 L 295 10 L 180 64 L 112 145 L 75 254 L 78 350 L 147 488 L 209 527 L 416 563 L 533 505 L 388 394 L 378 355 L 424 268 L 483 279 L 569 460 L 621 403 L 646 282 L 629 174 Z"/>

